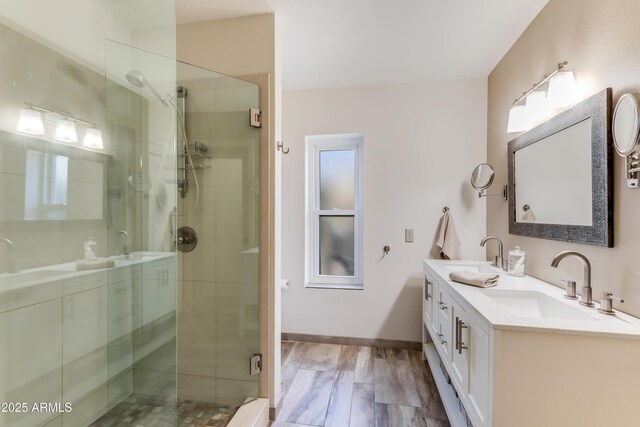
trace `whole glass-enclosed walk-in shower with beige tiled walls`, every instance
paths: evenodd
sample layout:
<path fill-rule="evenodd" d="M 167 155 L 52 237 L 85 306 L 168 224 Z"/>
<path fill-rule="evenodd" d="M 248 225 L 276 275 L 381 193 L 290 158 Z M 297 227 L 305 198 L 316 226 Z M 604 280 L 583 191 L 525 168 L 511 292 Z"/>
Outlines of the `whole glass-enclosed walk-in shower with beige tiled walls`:
<path fill-rule="evenodd" d="M 105 49 L 0 25 L 0 426 L 226 425 L 258 396 L 259 88 Z"/>

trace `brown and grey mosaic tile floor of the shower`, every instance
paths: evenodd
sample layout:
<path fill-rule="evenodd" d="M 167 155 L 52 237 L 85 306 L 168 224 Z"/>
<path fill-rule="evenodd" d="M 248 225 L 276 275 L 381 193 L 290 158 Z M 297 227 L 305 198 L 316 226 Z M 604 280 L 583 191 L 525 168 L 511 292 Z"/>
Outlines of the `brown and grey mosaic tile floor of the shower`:
<path fill-rule="evenodd" d="M 133 395 L 89 427 L 224 427 L 235 411 L 209 402 Z"/>

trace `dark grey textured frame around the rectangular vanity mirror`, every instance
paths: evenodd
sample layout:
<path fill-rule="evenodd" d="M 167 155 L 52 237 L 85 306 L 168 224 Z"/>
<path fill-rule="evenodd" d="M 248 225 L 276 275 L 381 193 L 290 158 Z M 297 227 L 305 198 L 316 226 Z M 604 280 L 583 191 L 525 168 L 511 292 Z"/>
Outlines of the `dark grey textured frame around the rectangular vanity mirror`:
<path fill-rule="evenodd" d="M 613 247 L 613 138 L 611 88 L 576 104 L 508 145 L 509 234 Z M 515 153 L 584 120 L 591 119 L 591 215 L 590 226 L 517 222 Z"/>

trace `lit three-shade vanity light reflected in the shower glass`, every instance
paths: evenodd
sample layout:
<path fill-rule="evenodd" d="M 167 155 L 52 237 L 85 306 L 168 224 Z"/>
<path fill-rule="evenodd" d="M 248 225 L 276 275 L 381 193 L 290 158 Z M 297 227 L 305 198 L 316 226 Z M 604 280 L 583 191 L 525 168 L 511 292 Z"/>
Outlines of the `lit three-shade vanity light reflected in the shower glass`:
<path fill-rule="evenodd" d="M 77 124 L 86 126 L 82 146 L 94 150 L 103 150 L 102 131 L 95 123 L 72 117 L 68 114 L 25 102 L 26 107 L 20 110 L 20 118 L 16 126 L 19 132 L 32 135 L 44 135 L 44 120 L 54 122 L 56 130 L 54 138 L 60 142 L 78 142 Z M 43 120 L 44 115 L 44 120 Z"/>

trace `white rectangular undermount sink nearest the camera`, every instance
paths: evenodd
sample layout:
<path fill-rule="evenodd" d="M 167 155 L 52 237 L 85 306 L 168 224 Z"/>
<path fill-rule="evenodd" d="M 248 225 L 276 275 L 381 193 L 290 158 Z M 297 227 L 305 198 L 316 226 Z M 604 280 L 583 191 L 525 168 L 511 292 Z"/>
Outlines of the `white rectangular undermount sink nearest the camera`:
<path fill-rule="evenodd" d="M 542 319 L 599 320 L 542 292 L 502 289 L 481 289 L 481 292 L 513 316 Z"/>

